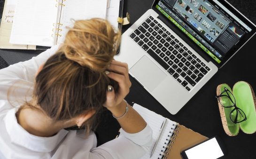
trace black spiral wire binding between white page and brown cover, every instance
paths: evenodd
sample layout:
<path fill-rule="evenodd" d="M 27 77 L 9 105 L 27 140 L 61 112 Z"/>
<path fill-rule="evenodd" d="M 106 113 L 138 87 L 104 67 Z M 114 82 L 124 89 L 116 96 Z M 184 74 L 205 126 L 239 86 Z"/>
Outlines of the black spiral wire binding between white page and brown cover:
<path fill-rule="evenodd" d="M 167 156 L 171 152 L 171 147 L 174 144 L 174 140 L 177 137 L 177 133 L 180 129 L 180 127 L 177 124 L 172 124 L 173 128 L 171 128 L 172 131 L 169 131 L 170 135 L 168 135 L 169 138 L 166 138 L 165 145 L 163 146 L 163 150 L 161 150 L 161 153 L 159 154 L 158 159 L 167 159 Z"/>

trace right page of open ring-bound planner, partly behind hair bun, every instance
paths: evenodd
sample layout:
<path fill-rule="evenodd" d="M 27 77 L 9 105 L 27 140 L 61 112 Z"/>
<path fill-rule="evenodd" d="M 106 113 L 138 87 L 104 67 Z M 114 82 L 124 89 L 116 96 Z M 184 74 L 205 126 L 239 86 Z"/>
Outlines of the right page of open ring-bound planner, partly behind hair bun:
<path fill-rule="evenodd" d="M 66 0 L 63 1 L 65 4 L 62 7 L 62 15 L 60 19 L 61 26 L 61 37 L 59 37 L 57 43 L 64 41 L 65 35 L 68 32 L 67 27 L 72 27 L 74 20 L 85 20 L 91 18 L 106 18 L 108 0 Z"/>

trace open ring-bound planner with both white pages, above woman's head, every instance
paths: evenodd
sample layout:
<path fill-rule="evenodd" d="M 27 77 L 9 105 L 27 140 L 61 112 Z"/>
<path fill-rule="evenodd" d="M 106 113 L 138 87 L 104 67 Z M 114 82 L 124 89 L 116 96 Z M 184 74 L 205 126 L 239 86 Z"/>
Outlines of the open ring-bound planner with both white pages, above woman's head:
<path fill-rule="evenodd" d="M 17 0 L 10 43 L 62 43 L 75 20 L 106 18 L 108 0 Z"/>

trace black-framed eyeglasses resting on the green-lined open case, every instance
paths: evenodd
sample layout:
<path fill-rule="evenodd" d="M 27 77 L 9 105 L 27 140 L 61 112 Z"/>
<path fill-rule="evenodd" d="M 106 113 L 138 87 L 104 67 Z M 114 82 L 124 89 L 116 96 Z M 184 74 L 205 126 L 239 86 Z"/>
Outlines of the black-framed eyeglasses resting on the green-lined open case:
<path fill-rule="evenodd" d="M 224 91 L 221 92 L 220 95 L 217 95 L 215 97 L 217 98 L 218 102 L 222 105 L 222 107 L 234 107 L 229 115 L 233 123 L 241 123 L 247 120 L 245 113 L 236 106 L 234 95 L 226 87 L 224 87 Z"/>

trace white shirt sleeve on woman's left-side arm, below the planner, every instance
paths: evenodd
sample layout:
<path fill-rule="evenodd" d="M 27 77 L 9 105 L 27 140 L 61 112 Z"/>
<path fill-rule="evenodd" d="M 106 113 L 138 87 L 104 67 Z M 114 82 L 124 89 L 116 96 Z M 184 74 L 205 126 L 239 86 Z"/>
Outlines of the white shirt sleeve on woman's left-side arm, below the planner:
<path fill-rule="evenodd" d="M 33 89 L 35 73 L 39 66 L 45 63 L 58 48 L 59 45 L 55 45 L 30 60 L 19 62 L 1 69 L 0 100 L 24 101 L 24 97 L 29 98 Z"/>

